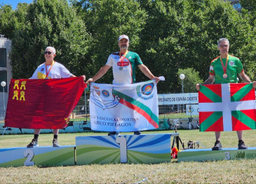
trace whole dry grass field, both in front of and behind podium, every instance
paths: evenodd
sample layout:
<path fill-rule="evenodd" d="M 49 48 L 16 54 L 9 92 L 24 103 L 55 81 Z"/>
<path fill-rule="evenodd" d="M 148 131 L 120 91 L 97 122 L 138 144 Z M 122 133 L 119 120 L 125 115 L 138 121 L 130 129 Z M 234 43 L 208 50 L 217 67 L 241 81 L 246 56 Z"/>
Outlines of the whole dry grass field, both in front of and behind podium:
<path fill-rule="evenodd" d="M 163 132 L 143 132 L 171 133 Z M 214 132 L 180 130 L 184 143 L 200 141 L 211 148 Z M 123 133 L 124 134 L 124 133 Z M 106 133 L 60 134 L 61 145 L 74 145 L 76 136 L 106 135 Z M 24 147 L 33 135 L 4 135 L 1 148 Z M 50 146 L 53 134 L 41 134 L 40 146 Z M 236 132 L 222 132 L 222 146 L 237 147 Z M 247 146 L 256 147 L 256 130 L 244 132 Z M 0 168 L 0 183 L 255 183 L 256 160 L 223 160 L 218 162 L 180 162 L 161 164 L 91 164 L 72 167 Z"/>

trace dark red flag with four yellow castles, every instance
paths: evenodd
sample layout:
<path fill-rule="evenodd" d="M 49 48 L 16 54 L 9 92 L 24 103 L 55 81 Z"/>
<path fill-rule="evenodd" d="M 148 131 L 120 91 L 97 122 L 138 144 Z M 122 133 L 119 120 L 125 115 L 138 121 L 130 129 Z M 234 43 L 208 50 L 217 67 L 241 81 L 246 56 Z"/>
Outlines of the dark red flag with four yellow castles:
<path fill-rule="evenodd" d="M 6 127 L 62 129 L 78 103 L 86 84 L 82 77 L 11 79 Z"/>

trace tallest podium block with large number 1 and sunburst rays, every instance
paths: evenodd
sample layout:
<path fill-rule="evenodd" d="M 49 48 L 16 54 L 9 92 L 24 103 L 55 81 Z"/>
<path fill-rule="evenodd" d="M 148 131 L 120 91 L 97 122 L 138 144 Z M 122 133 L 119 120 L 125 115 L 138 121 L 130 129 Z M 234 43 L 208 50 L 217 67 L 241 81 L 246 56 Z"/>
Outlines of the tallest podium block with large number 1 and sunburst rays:
<path fill-rule="evenodd" d="M 76 164 L 170 162 L 170 137 L 178 135 L 77 136 Z"/>

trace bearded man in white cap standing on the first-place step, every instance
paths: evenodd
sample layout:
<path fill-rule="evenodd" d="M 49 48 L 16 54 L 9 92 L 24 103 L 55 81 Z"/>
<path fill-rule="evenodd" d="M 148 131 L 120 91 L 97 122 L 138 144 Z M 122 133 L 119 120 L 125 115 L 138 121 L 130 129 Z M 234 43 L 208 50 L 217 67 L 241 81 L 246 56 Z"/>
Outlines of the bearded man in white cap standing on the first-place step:
<path fill-rule="evenodd" d="M 158 83 L 160 79 L 154 76 L 151 71 L 149 71 L 147 66 L 142 63 L 140 56 L 135 52 L 128 51 L 129 41 L 129 37 L 125 34 L 119 36 L 119 52 L 114 52 L 112 55 L 109 55 L 105 66 L 102 66 L 96 75 L 93 78 L 89 78 L 86 83 L 94 83 L 96 80 L 104 76 L 105 73 L 107 73 L 107 71 L 112 67 L 114 85 L 132 84 L 135 83 L 135 71 L 137 66 L 145 76 L 151 80 L 155 79 L 156 83 Z M 135 135 L 140 135 L 139 131 L 134 133 Z M 118 134 L 118 132 L 109 133 L 109 135 L 115 134 Z"/>

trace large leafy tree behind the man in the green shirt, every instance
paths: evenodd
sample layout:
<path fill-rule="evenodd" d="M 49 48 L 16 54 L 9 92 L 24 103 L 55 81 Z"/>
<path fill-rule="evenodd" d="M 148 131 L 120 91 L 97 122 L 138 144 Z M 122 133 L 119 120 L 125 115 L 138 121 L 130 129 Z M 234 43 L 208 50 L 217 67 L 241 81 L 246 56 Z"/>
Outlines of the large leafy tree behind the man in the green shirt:
<path fill-rule="evenodd" d="M 141 57 L 153 73 L 165 76 L 159 91 L 177 92 L 178 69 L 194 68 L 208 78 L 210 61 L 220 55 L 219 38 L 229 38 L 230 52 L 247 68 L 250 24 L 230 3 L 215 0 L 140 1 L 147 10 L 142 31 Z M 247 56 L 244 53 L 247 52 Z M 250 72 L 252 74 L 252 72 Z M 252 76 L 251 76 L 252 77 Z"/>

